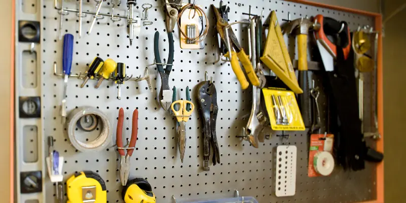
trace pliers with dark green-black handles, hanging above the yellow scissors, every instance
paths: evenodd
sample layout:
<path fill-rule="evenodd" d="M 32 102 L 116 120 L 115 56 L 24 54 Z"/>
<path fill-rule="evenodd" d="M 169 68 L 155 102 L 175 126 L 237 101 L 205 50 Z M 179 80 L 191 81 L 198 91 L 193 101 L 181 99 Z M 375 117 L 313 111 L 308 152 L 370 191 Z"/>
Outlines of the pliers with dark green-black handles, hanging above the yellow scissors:
<path fill-rule="evenodd" d="M 174 36 L 172 35 L 172 32 L 167 32 L 167 35 L 169 42 L 169 55 L 165 69 L 163 69 L 163 64 L 161 63 L 161 58 L 159 56 L 159 32 L 156 31 L 154 36 L 155 64 L 161 77 L 161 89 L 159 90 L 158 97 L 160 104 L 165 111 L 171 106 L 172 103 L 171 89 L 168 81 L 169 75 L 172 71 L 172 63 L 174 62 Z"/>

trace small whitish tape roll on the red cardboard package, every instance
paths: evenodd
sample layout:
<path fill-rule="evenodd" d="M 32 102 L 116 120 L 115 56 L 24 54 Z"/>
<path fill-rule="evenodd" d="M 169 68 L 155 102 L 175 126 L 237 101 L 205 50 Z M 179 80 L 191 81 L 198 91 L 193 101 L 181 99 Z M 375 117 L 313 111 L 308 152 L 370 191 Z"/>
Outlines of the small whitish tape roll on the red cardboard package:
<path fill-rule="evenodd" d="M 317 152 L 313 158 L 313 166 L 318 174 L 328 176 L 334 170 L 334 158 L 329 152 Z"/>

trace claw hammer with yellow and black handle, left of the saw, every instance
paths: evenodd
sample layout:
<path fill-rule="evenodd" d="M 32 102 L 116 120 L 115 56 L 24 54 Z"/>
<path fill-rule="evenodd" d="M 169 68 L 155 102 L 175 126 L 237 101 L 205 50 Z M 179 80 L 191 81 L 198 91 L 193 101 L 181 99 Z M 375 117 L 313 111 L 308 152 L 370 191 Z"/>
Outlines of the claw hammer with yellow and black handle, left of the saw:
<path fill-rule="evenodd" d="M 312 125 L 312 103 L 309 90 L 309 76 L 308 76 L 308 33 L 309 29 L 313 27 L 313 22 L 307 18 L 298 18 L 290 21 L 283 29 L 284 33 L 297 33 L 297 69 L 299 86 L 303 90 L 302 94 L 298 95 L 300 104 L 300 111 L 303 118 L 304 126 L 310 127 Z"/>

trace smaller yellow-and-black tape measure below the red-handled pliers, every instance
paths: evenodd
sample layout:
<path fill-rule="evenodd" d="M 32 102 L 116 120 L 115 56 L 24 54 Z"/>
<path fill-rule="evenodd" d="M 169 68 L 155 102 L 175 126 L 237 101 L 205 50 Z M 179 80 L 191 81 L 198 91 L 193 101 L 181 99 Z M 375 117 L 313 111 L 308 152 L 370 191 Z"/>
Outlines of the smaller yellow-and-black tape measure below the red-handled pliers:
<path fill-rule="evenodd" d="M 132 179 L 123 187 L 122 198 L 125 203 L 155 203 L 156 197 L 152 187 L 143 178 Z"/>

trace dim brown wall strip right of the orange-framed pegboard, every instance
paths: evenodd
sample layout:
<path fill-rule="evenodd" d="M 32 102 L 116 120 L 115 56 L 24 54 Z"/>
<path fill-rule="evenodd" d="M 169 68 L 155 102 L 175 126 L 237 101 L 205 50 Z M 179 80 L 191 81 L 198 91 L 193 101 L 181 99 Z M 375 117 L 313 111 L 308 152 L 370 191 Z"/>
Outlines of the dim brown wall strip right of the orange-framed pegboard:
<path fill-rule="evenodd" d="M 404 0 L 386 0 L 384 13 L 389 16 L 406 3 Z M 385 19 L 385 18 L 384 18 Z M 404 77 L 406 66 L 406 10 L 401 11 L 385 24 L 384 43 L 384 130 L 385 130 L 385 202 L 403 202 L 406 185 L 405 144 L 403 134 L 406 122 L 406 94 Z M 401 27 L 401 28 L 400 28 Z M 400 28 L 400 29 L 399 29 Z"/>

